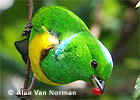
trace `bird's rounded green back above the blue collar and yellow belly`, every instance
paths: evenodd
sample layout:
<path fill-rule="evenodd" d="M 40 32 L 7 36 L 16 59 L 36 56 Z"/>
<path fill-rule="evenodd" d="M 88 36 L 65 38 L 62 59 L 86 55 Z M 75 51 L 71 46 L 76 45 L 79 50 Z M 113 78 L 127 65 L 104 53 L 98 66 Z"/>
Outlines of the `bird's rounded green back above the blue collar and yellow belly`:
<path fill-rule="evenodd" d="M 81 31 L 89 32 L 85 23 L 78 16 L 61 6 L 42 7 L 33 17 L 32 24 L 30 40 L 36 32 L 42 34 L 42 26 L 45 26 L 51 34 L 57 35 L 59 40 Z"/>

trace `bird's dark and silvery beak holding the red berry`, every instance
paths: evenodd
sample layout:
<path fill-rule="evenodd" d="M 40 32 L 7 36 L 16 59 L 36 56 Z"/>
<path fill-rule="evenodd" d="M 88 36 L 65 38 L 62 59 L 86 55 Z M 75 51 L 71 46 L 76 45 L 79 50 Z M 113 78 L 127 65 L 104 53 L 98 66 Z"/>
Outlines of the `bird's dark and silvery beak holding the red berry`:
<path fill-rule="evenodd" d="M 96 76 L 91 76 L 90 80 L 91 80 L 91 83 L 92 83 L 94 86 L 96 86 L 96 87 L 98 87 L 98 88 L 101 89 L 101 92 L 102 92 L 102 93 L 104 92 L 104 89 L 105 89 L 105 81 L 99 79 L 99 78 L 96 77 Z"/>

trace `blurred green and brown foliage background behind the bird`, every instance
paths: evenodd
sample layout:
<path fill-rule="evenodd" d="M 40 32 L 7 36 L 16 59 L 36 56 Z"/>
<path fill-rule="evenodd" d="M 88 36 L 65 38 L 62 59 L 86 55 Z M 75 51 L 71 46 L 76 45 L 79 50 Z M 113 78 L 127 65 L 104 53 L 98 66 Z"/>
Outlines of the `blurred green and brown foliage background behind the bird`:
<path fill-rule="evenodd" d="M 114 69 L 101 96 L 93 95 L 93 87 L 88 84 L 83 88 L 70 88 L 49 86 L 37 81 L 34 89 L 76 90 L 77 95 L 32 95 L 30 99 L 129 100 L 140 73 L 140 8 L 135 8 L 137 2 L 138 0 L 34 0 L 34 13 L 45 5 L 60 5 L 77 14 L 92 34 L 110 50 Z M 2 0 L 0 16 L 0 98 L 18 100 L 7 92 L 9 89 L 18 90 L 24 82 L 26 65 L 14 42 L 26 38 L 21 37 L 21 33 L 28 22 L 28 0 Z"/>

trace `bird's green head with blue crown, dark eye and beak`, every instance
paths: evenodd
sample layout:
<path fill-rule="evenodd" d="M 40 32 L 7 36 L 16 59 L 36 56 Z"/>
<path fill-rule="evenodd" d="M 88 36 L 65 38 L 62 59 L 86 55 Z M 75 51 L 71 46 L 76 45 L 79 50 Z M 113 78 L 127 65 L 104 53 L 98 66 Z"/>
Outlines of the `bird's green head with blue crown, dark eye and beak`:
<path fill-rule="evenodd" d="M 91 34 L 83 35 L 83 38 L 86 39 L 85 42 L 89 49 L 89 55 L 91 56 L 91 59 L 88 59 L 87 56 L 89 65 L 85 68 L 87 68 L 86 74 L 89 80 L 85 81 L 100 88 L 101 93 L 103 93 L 105 80 L 110 77 L 113 68 L 112 56 L 108 49 L 98 39 L 91 36 Z"/>

